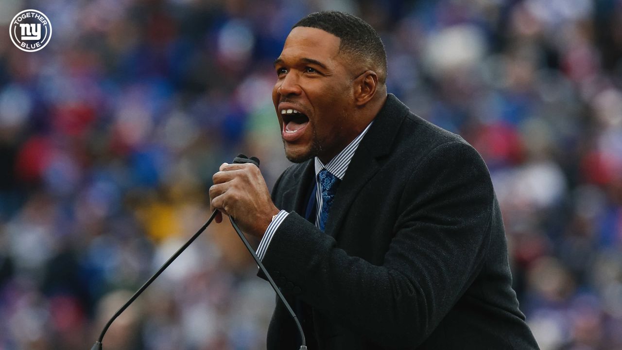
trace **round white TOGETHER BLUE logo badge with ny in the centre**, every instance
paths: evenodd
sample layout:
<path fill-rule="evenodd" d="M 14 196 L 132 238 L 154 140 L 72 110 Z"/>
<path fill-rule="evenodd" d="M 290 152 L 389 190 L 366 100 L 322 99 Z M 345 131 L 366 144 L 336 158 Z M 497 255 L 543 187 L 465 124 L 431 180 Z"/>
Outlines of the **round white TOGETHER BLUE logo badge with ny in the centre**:
<path fill-rule="evenodd" d="M 26 52 L 39 51 L 52 38 L 52 24 L 43 12 L 24 10 L 13 17 L 9 35 L 18 49 Z"/>

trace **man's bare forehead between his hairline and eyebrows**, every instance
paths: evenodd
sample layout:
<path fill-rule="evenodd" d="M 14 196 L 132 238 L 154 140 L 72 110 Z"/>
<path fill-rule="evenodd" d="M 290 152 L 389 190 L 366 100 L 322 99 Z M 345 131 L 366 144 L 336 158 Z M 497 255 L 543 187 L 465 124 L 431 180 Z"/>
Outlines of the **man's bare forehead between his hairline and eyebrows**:
<path fill-rule="evenodd" d="M 341 39 L 329 32 L 322 31 L 322 29 L 295 27 L 287 35 L 279 59 L 305 57 L 327 62 L 337 58 L 340 42 Z"/>

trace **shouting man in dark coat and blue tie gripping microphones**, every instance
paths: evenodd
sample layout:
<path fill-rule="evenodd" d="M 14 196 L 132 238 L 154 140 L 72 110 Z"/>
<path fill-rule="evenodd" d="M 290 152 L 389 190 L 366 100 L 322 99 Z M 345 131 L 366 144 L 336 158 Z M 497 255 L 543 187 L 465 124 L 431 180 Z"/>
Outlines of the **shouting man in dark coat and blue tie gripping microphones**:
<path fill-rule="evenodd" d="M 376 31 L 310 14 L 274 67 L 285 154 L 298 164 L 270 196 L 256 166 L 225 163 L 210 199 L 262 239 L 309 349 L 537 349 L 486 165 L 387 94 Z M 299 345 L 277 303 L 268 349 Z"/>

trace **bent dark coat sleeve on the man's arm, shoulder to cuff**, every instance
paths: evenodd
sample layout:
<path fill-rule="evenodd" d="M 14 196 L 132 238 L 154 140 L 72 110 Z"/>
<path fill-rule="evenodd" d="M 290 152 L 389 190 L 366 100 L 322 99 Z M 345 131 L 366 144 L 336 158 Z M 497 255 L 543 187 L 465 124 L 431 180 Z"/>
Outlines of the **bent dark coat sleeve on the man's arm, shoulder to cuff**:
<path fill-rule="evenodd" d="M 429 336 L 481 269 L 494 192 L 480 155 L 441 144 L 414 169 L 399 201 L 381 266 L 337 247 L 292 212 L 263 263 L 277 285 L 383 346 L 414 347 Z M 364 239 L 364 237 L 361 237 Z"/>

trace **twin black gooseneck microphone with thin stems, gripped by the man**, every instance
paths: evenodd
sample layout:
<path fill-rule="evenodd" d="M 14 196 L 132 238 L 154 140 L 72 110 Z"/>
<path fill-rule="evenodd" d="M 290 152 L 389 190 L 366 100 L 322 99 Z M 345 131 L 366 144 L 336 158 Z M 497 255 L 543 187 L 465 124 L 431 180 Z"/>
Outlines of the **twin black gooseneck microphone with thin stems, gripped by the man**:
<path fill-rule="evenodd" d="M 233 159 L 233 163 L 234 164 L 251 163 L 251 164 L 255 164 L 257 167 L 259 167 L 259 158 L 257 158 L 257 157 L 248 158 L 244 154 L 238 154 L 238 156 Z M 217 212 L 218 212 L 218 209 L 214 209 L 214 211 L 211 212 L 210 218 L 207 220 L 207 222 L 205 222 L 205 224 L 203 224 L 203 226 L 197 231 L 197 233 L 192 235 L 192 237 L 190 237 L 190 239 L 188 239 L 188 242 L 186 242 L 184 245 L 182 245 L 182 247 L 180 247 L 179 250 L 177 250 L 177 252 L 175 252 L 169 258 L 169 260 L 167 260 L 156 271 L 156 273 L 154 273 L 154 275 L 152 277 L 150 277 L 149 280 L 147 280 L 145 282 L 145 284 L 142 285 L 141 288 L 139 288 L 139 290 L 137 290 L 136 293 L 134 293 L 134 295 L 132 295 L 132 297 L 129 298 L 129 300 L 123 306 L 121 306 L 121 308 L 119 308 L 119 310 L 116 311 L 116 313 L 114 313 L 114 315 L 108 320 L 108 323 L 106 323 L 106 325 L 104 326 L 104 329 L 102 329 L 100 337 L 97 339 L 97 341 L 95 341 L 95 344 L 93 344 L 93 347 L 91 348 L 91 350 L 102 350 L 102 341 L 103 341 L 104 335 L 106 334 L 106 331 L 108 331 L 108 328 L 113 323 L 113 321 L 116 318 L 118 318 L 119 315 L 121 315 L 121 313 L 123 313 L 123 311 L 125 311 L 128 308 L 128 306 L 131 305 L 134 302 L 134 300 L 136 300 L 136 298 L 138 298 L 138 296 L 141 295 L 142 292 L 145 291 L 147 289 L 147 287 L 149 287 L 149 285 L 151 285 L 151 283 L 154 280 L 156 280 L 156 278 L 162 272 L 164 272 L 164 270 L 166 270 L 166 268 L 169 267 L 169 265 L 172 262 L 174 262 L 175 259 L 177 259 L 177 257 L 179 257 L 179 255 L 181 255 L 181 253 L 183 253 L 183 251 L 186 250 L 186 248 L 188 248 L 190 246 L 190 244 L 192 244 L 192 242 L 194 242 L 195 239 L 197 239 L 197 237 L 200 234 L 203 233 L 203 231 L 205 229 L 207 229 L 207 227 L 211 224 L 212 220 L 214 220 L 214 217 L 216 216 Z M 294 322 L 295 322 L 295 324 L 296 324 L 296 326 L 298 328 L 298 331 L 300 333 L 300 338 L 302 339 L 302 345 L 300 345 L 299 350 L 307 350 L 307 342 L 305 341 L 305 334 L 302 331 L 302 325 L 300 325 L 300 321 L 298 320 L 298 317 L 294 313 L 294 310 L 292 310 L 292 307 L 289 305 L 289 303 L 287 303 L 287 300 L 285 300 L 285 297 L 282 295 L 281 290 L 279 290 L 279 287 L 277 287 L 276 283 L 274 283 L 274 280 L 272 280 L 272 277 L 267 272 L 267 270 L 264 267 L 264 265 L 261 263 L 261 260 L 259 260 L 259 257 L 257 256 L 255 251 L 253 250 L 253 247 L 251 247 L 251 245 L 248 243 L 248 240 L 246 240 L 246 237 L 244 237 L 244 234 L 239 229 L 238 224 L 236 224 L 236 222 L 233 219 L 233 217 L 230 216 L 229 220 L 231 221 L 231 225 L 233 226 L 233 229 L 236 231 L 236 233 L 238 234 L 239 238 L 244 243 L 244 247 L 246 247 L 248 252 L 251 253 L 251 256 L 253 256 L 253 259 L 255 260 L 257 265 L 259 266 L 259 269 L 264 273 L 264 275 L 266 275 L 266 278 L 267 278 L 268 282 L 270 283 L 270 285 L 272 286 L 272 289 L 274 289 L 276 294 L 279 296 L 279 300 L 281 300 L 281 302 L 285 305 L 285 308 L 287 308 L 287 311 L 289 311 L 289 314 L 294 319 Z"/>

